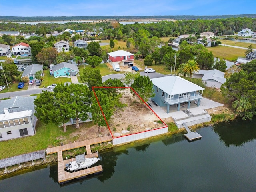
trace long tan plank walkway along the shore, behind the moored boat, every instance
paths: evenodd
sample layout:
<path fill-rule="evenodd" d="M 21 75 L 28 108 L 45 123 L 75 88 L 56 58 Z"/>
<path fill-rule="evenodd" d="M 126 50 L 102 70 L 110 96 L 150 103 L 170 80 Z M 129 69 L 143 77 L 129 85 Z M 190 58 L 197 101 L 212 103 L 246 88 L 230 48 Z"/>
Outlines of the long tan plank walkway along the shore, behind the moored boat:
<path fill-rule="evenodd" d="M 89 140 L 85 140 L 85 141 L 74 142 L 74 143 L 70 143 L 70 144 L 65 144 L 63 146 L 56 146 L 56 147 L 48 148 L 46 150 L 46 154 L 53 154 L 53 153 L 56 153 L 58 151 L 66 151 L 66 150 L 70 150 L 70 149 L 84 147 L 86 145 L 90 146 L 90 145 L 94 145 L 94 144 L 98 144 L 98 143 L 104 143 L 104 142 L 108 142 L 108 141 L 112 141 L 112 136 L 111 135 L 110 136 L 99 137 L 99 138 L 95 138 L 95 139 L 89 139 Z"/>

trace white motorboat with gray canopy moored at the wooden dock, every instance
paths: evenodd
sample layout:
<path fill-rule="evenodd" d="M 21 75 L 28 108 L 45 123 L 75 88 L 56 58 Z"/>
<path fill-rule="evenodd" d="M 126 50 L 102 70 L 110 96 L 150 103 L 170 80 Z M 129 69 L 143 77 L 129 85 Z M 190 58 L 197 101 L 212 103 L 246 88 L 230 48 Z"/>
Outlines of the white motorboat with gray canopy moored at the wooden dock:
<path fill-rule="evenodd" d="M 85 158 L 84 155 L 77 155 L 76 160 L 66 164 L 66 170 L 76 171 L 83 168 L 88 168 L 100 160 L 97 157 Z"/>

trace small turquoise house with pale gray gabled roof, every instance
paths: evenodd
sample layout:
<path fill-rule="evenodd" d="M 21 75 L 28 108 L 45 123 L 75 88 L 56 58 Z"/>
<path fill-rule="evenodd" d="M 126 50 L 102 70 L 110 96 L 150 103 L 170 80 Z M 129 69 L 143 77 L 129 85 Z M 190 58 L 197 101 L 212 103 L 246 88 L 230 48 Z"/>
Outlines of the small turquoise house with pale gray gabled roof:
<path fill-rule="evenodd" d="M 52 67 L 52 75 L 54 77 L 76 76 L 79 72 L 76 64 L 62 62 Z"/>

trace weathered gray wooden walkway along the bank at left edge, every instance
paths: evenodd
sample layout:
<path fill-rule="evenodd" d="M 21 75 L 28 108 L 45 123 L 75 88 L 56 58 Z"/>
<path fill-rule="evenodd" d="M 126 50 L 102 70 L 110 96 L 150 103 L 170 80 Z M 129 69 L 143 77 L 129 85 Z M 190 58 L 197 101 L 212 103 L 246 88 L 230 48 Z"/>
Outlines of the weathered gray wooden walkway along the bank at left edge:
<path fill-rule="evenodd" d="M 37 159 L 43 159 L 45 158 L 45 151 L 40 150 L 40 151 L 35 151 L 32 153 L 27 153 L 27 154 L 22 154 L 6 159 L 1 159 L 0 160 L 0 168 L 6 168 L 8 166 L 24 163 L 24 162 L 29 162 L 29 161 L 34 161 Z"/>

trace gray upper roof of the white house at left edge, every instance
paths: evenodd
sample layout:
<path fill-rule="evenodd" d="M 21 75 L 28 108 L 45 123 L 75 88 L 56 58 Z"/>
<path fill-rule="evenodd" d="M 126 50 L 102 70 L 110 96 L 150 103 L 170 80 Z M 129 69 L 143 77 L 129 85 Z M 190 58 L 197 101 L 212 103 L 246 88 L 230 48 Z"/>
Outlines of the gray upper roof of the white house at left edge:
<path fill-rule="evenodd" d="M 0 114 L 4 114 L 4 109 L 8 108 L 9 113 L 34 110 L 34 100 L 37 96 L 21 97 L 16 96 L 11 99 L 0 101 Z"/>

